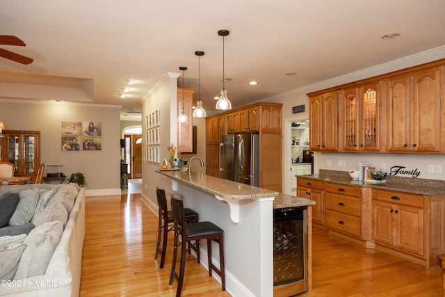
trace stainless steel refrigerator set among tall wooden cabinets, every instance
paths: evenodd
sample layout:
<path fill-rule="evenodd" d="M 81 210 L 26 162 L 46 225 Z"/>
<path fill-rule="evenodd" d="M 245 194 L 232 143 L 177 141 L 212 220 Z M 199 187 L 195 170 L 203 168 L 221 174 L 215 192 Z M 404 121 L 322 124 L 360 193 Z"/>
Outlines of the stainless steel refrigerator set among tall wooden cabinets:
<path fill-rule="evenodd" d="M 233 150 L 231 150 L 232 148 Z M 220 176 L 222 178 L 259 186 L 258 134 L 222 136 L 220 158 L 220 164 L 222 164 L 220 165 Z M 230 170 L 230 168 L 233 169 Z"/>

